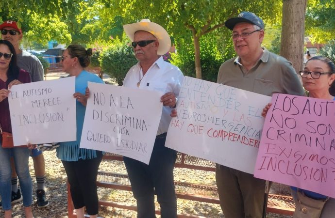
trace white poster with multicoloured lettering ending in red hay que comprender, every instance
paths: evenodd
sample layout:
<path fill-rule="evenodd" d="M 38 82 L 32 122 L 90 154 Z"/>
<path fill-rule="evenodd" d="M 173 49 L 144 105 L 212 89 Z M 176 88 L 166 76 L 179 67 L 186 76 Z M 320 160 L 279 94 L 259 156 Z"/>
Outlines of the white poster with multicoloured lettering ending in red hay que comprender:
<path fill-rule="evenodd" d="M 271 97 L 185 77 L 165 146 L 253 173 Z"/>

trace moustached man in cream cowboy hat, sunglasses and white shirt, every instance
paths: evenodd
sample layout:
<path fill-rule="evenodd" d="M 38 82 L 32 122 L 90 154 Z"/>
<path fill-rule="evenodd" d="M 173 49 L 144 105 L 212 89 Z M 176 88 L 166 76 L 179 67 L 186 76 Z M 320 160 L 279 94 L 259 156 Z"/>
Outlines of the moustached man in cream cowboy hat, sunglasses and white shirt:
<path fill-rule="evenodd" d="M 170 37 L 163 27 L 143 19 L 123 28 L 139 61 L 128 71 L 123 86 L 165 93 L 161 97 L 164 107 L 149 165 L 124 157 L 137 201 L 137 218 L 155 218 L 154 190 L 161 207 L 161 217 L 177 218 L 173 183 L 176 151 L 164 145 L 171 109 L 176 106 L 184 76 L 178 67 L 163 60 L 162 55 L 171 47 Z"/>

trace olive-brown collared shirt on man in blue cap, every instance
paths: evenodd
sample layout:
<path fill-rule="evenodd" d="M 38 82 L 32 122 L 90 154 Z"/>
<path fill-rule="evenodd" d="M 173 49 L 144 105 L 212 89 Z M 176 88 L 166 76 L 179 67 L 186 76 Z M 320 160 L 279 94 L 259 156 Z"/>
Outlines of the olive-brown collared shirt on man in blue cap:
<path fill-rule="evenodd" d="M 304 95 L 292 63 L 263 49 L 262 57 L 248 72 L 239 57 L 222 63 L 217 82 L 268 96 L 273 93 Z"/>

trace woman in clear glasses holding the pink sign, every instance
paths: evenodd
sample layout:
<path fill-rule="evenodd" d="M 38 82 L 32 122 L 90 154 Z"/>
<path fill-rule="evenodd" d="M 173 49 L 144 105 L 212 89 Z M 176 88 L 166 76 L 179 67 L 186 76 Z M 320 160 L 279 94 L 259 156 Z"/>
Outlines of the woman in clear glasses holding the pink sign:
<path fill-rule="evenodd" d="M 335 65 L 330 59 L 312 57 L 299 74 L 308 97 L 335 100 Z M 264 117 L 270 106 L 263 109 Z M 297 187 L 291 187 L 291 192 L 296 204 L 293 218 L 334 218 L 335 199 Z"/>

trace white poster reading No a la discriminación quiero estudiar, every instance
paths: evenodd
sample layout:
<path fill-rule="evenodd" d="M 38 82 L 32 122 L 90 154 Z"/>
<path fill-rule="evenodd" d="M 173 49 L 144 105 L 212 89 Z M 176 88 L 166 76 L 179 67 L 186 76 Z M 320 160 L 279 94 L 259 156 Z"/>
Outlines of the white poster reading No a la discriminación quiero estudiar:
<path fill-rule="evenodd" d="M 80 147 L 149 164 L 162 115 L 161 94 L 92 82 L 88 88 Z"/>

